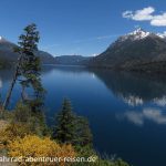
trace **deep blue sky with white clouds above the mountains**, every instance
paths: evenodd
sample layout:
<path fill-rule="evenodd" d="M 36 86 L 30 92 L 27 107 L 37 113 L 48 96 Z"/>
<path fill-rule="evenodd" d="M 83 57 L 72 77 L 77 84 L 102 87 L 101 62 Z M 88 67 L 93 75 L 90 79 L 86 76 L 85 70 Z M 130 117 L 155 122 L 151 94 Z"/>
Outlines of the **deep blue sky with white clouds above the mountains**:
<path fill-rule="evenodd" d="M 0 35 L 17 43 L 32 22 L 40 50 L 96 55 L 136 28 L 164 33 L 166 0 L 0 0 Z"/>

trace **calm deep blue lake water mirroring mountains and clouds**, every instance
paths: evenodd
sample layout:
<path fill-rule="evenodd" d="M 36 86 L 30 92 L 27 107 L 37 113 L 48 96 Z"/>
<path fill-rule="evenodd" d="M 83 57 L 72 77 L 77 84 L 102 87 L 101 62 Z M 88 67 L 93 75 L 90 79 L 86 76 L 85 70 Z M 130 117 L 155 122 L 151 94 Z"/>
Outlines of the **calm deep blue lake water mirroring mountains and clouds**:
<path fill-rule="evenodd" d="M 11 76 L 11 71 L 0 71 L 2 98 Z M 46 65 L 42 82 L 49 124 L 69 97 L 74 111 L 89 118 L 101 154 L 116 155 L 134 166 L 166 165 L 166 76 Z M 11 107 L 19 89 L 14 87 Z"/>

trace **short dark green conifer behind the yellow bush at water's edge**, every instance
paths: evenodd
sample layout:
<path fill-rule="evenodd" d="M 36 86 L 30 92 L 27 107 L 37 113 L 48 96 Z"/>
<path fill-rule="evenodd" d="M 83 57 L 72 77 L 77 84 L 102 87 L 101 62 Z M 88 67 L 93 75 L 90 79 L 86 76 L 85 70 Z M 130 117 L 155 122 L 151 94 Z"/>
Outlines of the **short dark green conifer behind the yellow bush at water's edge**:
<path fill-rule="evenodd" d="M 92 145 L 92 134 L 87 120 L 73 113 L 69 100 L 63 101 L 62 110 L 56 115 L 55 122 L 54 139 L 79 146 Z"/>

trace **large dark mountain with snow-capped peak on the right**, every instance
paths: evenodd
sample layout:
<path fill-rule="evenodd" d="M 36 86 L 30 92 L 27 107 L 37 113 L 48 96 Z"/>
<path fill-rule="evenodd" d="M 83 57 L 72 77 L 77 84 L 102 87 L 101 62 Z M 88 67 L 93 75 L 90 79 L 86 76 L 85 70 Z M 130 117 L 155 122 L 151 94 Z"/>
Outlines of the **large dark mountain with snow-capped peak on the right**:
<path fill-rule="evenodd" d="M 120 37 L 90 65 L 128 71 L 166 71 L 166 35 L 137 29 Z"/>

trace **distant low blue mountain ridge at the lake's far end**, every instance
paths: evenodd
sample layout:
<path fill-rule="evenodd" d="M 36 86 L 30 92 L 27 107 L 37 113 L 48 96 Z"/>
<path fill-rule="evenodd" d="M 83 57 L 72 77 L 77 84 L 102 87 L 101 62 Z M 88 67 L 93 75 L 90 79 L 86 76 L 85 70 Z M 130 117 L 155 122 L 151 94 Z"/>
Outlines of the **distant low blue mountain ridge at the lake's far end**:
<path fill-rule="evenodd" d="M 55 56 L 56 64 L 64 65 L 86 65 L 91 56 L 82 56 L 82 55 L 61 55 Z"/>

